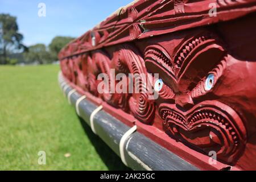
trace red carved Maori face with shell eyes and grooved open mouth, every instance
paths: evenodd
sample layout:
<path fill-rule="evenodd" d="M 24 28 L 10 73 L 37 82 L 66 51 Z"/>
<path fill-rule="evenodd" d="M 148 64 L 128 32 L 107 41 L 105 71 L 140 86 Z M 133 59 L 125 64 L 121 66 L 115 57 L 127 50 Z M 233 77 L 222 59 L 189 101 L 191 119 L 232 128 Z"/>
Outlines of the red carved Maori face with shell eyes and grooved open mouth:
<path fill-rule="evenodd" d="M 246 79 L 255 79 L 256 65 L 229 55 L 209 32 L 172 42 L 176 47 L 168 52 L 160 45 L 144 51 L 147 70 L 159 73 L 155 102 L 164 131 L 205 154 L 215 151 L 217 160 L 236 162 L 245 148 L 246 123 L 252 122 L 242 109 L 255 108 L 256 86 Z M 243 86 L 236 84 L 241 79 Z"/>

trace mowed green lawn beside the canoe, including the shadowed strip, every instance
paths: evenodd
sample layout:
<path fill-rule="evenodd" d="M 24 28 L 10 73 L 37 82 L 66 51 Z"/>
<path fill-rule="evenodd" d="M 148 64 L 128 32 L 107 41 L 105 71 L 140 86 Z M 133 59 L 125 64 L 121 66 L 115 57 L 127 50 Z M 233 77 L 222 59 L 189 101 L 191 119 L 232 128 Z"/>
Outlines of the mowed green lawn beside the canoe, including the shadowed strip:
<path fill-rule="evenodd" d="M 59 65 L 0 67 L 0 170 L 127 169 L 77 117 L 58 72 Z"/>

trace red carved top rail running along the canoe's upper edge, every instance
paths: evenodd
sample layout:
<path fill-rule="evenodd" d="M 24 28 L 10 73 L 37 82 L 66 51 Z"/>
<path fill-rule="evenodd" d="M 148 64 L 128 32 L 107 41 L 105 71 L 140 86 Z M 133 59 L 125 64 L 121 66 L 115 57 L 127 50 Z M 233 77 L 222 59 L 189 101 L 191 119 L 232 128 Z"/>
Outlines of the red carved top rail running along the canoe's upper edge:
<path fill-rule="evenodd" d="M 219 16 L 208 16 L 210 3 L 217 5 Z M 230 13 L 230 10 L 233 13 Z M 255 11 L 254 0 L 137 1 L 133 5 L 123 7 L 93 30 L 69 43 L 59 56 L 64 59 L 72 56 L 73 53 L 78 54 L 130 40 L 150 38 L 153 34 L 163 35 L 222 22 Z M 204 18 L 199 18 L 201 16 Z"/>

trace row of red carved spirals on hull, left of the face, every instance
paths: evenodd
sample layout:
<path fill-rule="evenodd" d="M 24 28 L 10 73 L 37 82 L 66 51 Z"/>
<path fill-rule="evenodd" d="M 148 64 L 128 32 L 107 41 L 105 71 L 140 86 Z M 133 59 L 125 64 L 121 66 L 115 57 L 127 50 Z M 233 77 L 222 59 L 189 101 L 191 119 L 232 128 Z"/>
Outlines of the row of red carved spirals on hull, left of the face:
<path fill-rule="evenodd" d="M 150 78 L 147 77 L 144 60 L 133 46 L 126 44 L 116 48 L 112 59 L 101 50 L 72 57 L 61 61 L 61 69 L 69 81 L 94 96 L 101 97 L 108 104 L 130 112 L 143 123 L 152 124 L 154 121 L 155 103 L 154 100 L 149 99 L 151 96 L 149 89 L 152 89 L 152 86 L 147 80 Z M 110 69 L 114 69 L 116 74 L 124 73 L 127 78 L 126 88 L 129 88 L 131 82 L 133 90 L 126 90 L 126 93 L 117 93 L 114 90 L 112 93 L 110 81 L 114 81 L 114 85 L 118 84 L 118 81 L 115 80 L 116 75 L 110 73 Z M 108 87 L 104 88 L 108 90 L 104 90 L 103 93 L 98 92 L 98 84 L 101 80 L 97 77 L 100 73 L 105 73 L 109 78 Z M 131 77 L 129 77 L 130 73 L 133 74 Z M 142 74 L 146 77 L 141 76 Z"/>

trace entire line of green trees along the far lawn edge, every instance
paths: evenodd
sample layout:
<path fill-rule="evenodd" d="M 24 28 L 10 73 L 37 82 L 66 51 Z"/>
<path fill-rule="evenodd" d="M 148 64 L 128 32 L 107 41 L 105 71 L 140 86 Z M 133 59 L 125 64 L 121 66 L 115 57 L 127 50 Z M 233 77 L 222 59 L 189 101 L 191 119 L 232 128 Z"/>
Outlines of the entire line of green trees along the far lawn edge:
<path fill-rule="evenodd" d="M 58 53 L 73 39 L 69 36 L 56 36 L 49 46 L 35 44 L 25 46 L 19 32 L 16 17 L 0 14 L 0 64 L 48 64 L 58 60 Z"/>

